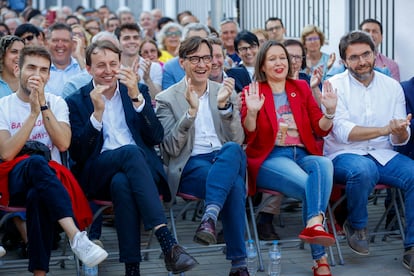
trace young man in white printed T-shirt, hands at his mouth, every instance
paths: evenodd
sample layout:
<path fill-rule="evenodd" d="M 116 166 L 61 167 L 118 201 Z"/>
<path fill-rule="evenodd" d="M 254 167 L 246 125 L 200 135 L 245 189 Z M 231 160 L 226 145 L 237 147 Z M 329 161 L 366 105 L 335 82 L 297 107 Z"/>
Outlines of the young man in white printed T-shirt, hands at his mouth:
<path fill-rule="evenodd" d="M 50 64 L 50 54 L 44 47 L 23 48 L 19 57 L 19 89 L 0 99 L 0 203 L 26 207 L 30 242 L 28 269 L 41 276 L 49 271 L 56 222 L 68 235 L 72 251 L 84 264 L 95 266 L 108 256 L 75 225 L 72 208 L 75 202 L 71 202 L 48 160 L 39 155 L 19 156 L 27 141 L 47 146 L 52 160 L 57 162 L 61 161 L 59 151 L 69 147 L 68 107 L 62 98 L 45 93 L 44 89 L 50 77 Z M 9 202 L 4 202 L 8 196 Z M 83 194 L 75 193 L 74 197 L 83 199 L 88 206 Z M 0 247 L 2 254 L 5 251 Z"/>

